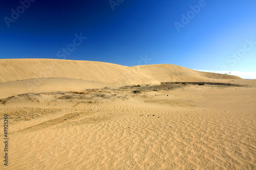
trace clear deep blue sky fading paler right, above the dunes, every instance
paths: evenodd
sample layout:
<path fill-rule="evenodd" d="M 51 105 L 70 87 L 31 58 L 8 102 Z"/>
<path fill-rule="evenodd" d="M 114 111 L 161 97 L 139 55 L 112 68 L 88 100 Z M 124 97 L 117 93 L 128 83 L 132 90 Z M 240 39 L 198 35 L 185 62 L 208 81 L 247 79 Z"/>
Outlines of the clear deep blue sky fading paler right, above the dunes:
<path fill-rule="evenodd" d="M 256 0 L 4 0 L 0 59 L 168 63 L 255 72 L 255 9 Z M 77 36 L 87 38 L 74 45 Z"/>

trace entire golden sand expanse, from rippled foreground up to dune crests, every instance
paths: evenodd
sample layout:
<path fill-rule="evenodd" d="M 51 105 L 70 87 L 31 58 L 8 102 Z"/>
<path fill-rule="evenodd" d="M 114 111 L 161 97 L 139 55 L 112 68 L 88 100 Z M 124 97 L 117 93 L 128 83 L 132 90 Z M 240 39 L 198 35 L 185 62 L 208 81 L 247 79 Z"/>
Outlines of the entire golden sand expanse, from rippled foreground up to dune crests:
<path fill-rule="evenodd" d="M 52 61 L 0 60 L 0 169 L 255 169 L 256 80 L 64 60 L 40 78 Z"/>

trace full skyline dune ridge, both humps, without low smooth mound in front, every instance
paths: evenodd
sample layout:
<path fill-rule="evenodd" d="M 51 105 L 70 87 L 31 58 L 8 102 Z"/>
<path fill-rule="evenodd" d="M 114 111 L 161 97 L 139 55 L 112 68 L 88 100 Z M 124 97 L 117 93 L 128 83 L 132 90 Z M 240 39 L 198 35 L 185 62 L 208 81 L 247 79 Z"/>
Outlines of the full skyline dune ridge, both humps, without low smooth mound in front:
<path fill-rule="evenodd" d="M 57 59 L 1 59 L 0 71 L 0 83 L 36 78 L 69 78 L 121 84 L 242 79 L 237 76 L 201 72 L 172 64 L 126 67 L 96 61 Z"/>

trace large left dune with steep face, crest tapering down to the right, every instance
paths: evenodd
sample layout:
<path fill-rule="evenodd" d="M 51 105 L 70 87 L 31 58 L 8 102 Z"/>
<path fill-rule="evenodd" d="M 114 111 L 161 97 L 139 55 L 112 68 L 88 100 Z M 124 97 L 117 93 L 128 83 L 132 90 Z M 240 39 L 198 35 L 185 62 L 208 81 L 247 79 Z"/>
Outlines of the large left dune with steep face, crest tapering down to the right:
<path fill-rule="evenodd" d="M 1 82 L 35 78 L 70 78 L 103 83 L 159 83 L 150 76 L 134 71 L 133 68 L 95 61 L 2 59 L 0 71 Z"/>

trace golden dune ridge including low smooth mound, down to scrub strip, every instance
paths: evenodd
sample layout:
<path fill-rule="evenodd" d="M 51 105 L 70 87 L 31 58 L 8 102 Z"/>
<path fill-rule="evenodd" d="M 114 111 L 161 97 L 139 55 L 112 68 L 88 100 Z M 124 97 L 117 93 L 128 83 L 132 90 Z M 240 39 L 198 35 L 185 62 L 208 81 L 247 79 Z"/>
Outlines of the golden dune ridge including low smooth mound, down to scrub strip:
<path fill-rule="evenodd" d="M 0 88 L 4 89 L 0 98 L 29 92 L 81 91 L 131 84 L 241 79 L 172 64 L 126 67 L 103 62 L 55 59 L 1 59 L 0 72 Z"/>

